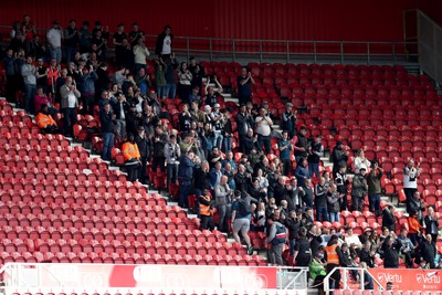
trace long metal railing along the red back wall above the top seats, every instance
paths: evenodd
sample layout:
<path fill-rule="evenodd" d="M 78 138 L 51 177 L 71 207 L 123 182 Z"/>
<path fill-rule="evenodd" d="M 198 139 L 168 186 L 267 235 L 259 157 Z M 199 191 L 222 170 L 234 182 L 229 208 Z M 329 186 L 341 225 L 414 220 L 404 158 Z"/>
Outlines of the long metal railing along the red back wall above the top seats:
<path fill-rule="evenodd" d="M 10 25 L 0 25 L 0 32 L 9 41 Z M 45 31 L 38 29 L 43 39 Z M 110 32 L 112 39 L 112 32 Z M 157 35 L 146 35 L 146 43 L 152 46 Z M 112 42 L 108 42 L 112 49 Z M 217 56 L 236 62 L 239 60 L 255 60 L 265 62 L 277 59 L 282 62 L 307 60 L 312 63 L 338 62 L 354 63 L 359 61 L 366 64 L 380 61 L 397 64 L 399 62 L 418 61 L 417 42 L 376 42 L 376 41 L 297 41 L 297 40 L 255 40 L 255 39 L 223 39 L 175 36 L 173 50 L 177 54 L 189 59 L 191 55 L 203 55 L 212 61 Z"/>

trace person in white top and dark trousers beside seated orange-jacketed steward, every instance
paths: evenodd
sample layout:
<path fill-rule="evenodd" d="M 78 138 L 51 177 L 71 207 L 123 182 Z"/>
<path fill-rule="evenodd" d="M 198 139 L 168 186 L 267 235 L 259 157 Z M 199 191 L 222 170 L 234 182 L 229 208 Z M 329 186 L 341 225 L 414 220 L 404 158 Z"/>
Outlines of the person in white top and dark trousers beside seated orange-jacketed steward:
<path fill-rule="evenodd" d="M 78 107 L 80 92 L 73 78 L 67 76 L 65 84 L 60 88 L 62 97 L 61 107 L 64 110 L 64 135 L 72 136 L 74 124 L 76 123 L 76 109 Z"/>

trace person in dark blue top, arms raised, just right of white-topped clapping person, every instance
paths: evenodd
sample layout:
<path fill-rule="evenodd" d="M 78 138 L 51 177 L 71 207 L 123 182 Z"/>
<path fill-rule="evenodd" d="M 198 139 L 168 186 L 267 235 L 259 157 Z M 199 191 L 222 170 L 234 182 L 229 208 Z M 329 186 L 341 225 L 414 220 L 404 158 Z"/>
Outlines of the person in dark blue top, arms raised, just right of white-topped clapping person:
<path fill-rule="evenodd" d="M 80 93 L 83 101 L 83 114 L 94 115 L 95 81 L 98 80 L 98 75 L 92 65 L 90 69 L 87 69 L 87 66 L 81 66 L 80 73 Z"/>

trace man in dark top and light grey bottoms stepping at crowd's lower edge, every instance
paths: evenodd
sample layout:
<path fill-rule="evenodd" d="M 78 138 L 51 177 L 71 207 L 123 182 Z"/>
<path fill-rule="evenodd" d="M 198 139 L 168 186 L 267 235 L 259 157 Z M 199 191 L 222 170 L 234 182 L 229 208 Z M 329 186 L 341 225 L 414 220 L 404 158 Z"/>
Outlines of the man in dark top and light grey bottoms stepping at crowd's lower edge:
<path fill-rule="evenodd" d="M 245 244 L 248 245 L 248 254 L 252 255 L 253 247 L 249 238 L 250 220 L 252 210 L 250 203 L 245 200 L 245 197 L 241 191 L 234 192 L 234 202 L 232 204 L 232 231 L 233 238 L 236 243 L 241 243 L 239 232 L 241 232 Z"/>

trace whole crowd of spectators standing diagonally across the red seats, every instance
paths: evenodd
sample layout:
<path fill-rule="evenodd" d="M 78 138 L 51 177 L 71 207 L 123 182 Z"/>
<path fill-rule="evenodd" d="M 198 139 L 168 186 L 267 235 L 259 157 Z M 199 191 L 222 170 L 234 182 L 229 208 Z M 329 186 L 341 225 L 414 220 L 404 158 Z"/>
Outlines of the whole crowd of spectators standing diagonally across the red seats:
<path fill-rule="evenodd" d="M 156 66 L 148 72 L 146 59 L 151 53 L 137 23 L 128 34 L 119 24 L 113 36 L 98 21 L 92 31 L 87 22 L 77 29 L 75 20 L 65 30 L 57 21 L 53 24 L 42 44 L 25 15 L 11 32 L 3 59 L 7 98 L 18 103 L 15 91 L 23 89 L 23 107 L 39 114 L 44 131 L 60 131 L 52 116 L 62 112 L 63 133 L 72 136 L 77 112 L 96 115 L 98 108 L 104 160 L 112 160 L 114 143 L 124 143 L 129 180 L 148 183 L 146 167 L 167 173 L 168 188 L 179 185 L 178 196 L 169 191 L 179 206 L 189 208 L 189 197 L 196 196 L 190 210 L 201 218 L 202 229 L 232 231 L 249 253 L 249 232 L 265 233 L 270 263 L 309 265 L 314 280 L 337 266 L 398 267 L 400 257 L 407 267 L 441 266 L 438 219 L 420 199 L 420 167 L 413 160 L 403 171 L 409 218 L 408 228 L 400 229 L 394 207 L 380 207 L 386 171 L 378 162 L 359 150 L 351 171 L 348 151 L 337 141 L 333 169 L 324 169 L 320 135 L 308 138 L 307 127 L 297 127 L 290 102 L 281 118 L 270 115 L 266 102 L 253 105 L 255 82 L 246 67 L 236 80 L 239 108 L 221 108 L 218 78 L 206 76 L 194 57 L 189 64 L 177 61 L 170 27 L 158 35 L 151 56 Z M 115 62 L 109 66 L 110 38 Z M 61 66 L 62 54 L 66 66 Z M 110 67 L 116 69 L 113 75 Z M 171 126 L 165 98 L 177 94 L 179 119 Z M 274 122 L 281 123 L 281 134 Z M 368 228 L 358 235 L 339 223 L 341 211 L 362 211 L 366 200 L 369 210 L 382 217 L 381 233 Z M 316 222 L 332 225 L 319 228 Z"/>

